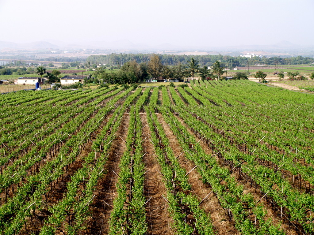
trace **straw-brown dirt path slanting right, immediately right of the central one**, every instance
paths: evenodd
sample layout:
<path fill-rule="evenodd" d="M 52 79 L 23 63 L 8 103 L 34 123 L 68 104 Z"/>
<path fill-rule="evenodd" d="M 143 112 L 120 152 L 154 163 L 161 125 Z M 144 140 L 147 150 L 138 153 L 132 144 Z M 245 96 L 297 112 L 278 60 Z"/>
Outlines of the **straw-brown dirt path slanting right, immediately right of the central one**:
<path fill-rule="evenodd" d="M 183 149 L 180 147 L 180 144 L 177 138 L 174 136 L 169 125 L 165 122 L 162 115 L 158 115 L 158 119 L 162 124 L 165 133 L 168 133 L 168 138 L 170 141 L 171 149 L 173 150 L 176 156 L 180 155 L 183 152 Z M 179 156 L 178 160 L 180 165 L 189 172 L 195 165 L 192 161 L 186 159 L 182 154 Z M 195 194 L 198 199 L 203 200 L 211 191 L 211 187 L 207 184 L 204 184 L 201 180 L 201 175 L 198 174 L 196 170 L 192 170 L 188 175 L 188 181 L 191 185 L 192 192 Z M 201 207 L 210 214 L 212 223 L 215 231 L 219 235 L 225 234 L 238 234 L 238 231 L 234 227 L 234 224 L 229 221 L 229 217 L 225 215 L 225 210 L 220 206 L 217 197 L 213 194 L 208 196 L 201 204 Z"/>

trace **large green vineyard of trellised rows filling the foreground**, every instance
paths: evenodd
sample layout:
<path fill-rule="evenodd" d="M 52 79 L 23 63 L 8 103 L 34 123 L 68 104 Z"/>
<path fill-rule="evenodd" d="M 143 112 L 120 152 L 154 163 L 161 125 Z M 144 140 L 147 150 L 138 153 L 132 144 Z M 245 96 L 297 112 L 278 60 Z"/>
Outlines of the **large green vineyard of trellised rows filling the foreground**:
<path fill-rule="evenodd" d="M 2 234 L 314 234 L 314 96 L 252 81 L 0 96 Z"/>

